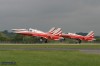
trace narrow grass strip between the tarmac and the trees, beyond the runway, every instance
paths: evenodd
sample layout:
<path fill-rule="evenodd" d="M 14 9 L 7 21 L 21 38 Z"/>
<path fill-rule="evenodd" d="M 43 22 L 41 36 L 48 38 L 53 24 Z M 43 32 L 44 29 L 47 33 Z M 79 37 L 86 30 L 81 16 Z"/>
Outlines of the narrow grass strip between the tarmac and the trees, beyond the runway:
<path fill-rule="evenodd" d="M 93 49 L 100 49 L 100 44 L 0 44 L 0 48 L 93 48 Z"/>

